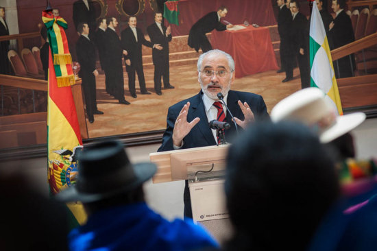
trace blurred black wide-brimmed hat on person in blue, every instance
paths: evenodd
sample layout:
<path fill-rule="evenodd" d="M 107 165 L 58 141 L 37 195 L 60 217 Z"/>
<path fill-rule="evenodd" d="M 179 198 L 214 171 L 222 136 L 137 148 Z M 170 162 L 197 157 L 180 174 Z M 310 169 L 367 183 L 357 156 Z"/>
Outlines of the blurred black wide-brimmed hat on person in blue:
<path fill-rule="evenodd" d="M 136 189 L 157 171 L 153 163 L 132 165 L 119 141 L 103 141 L 84 147 L 77 159 L 77 182 L 58 193 L 57 200 L 88 203 L 110 198 Z"/>

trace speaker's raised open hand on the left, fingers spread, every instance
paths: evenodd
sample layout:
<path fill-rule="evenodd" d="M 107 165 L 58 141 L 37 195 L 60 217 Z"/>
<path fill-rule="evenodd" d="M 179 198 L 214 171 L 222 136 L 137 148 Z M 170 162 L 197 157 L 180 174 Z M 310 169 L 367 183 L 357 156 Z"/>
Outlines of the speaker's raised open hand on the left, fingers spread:
<path fill-rule="evenodd" d="M 180 111 L 177 119 L 175 120 L 174 129 L 173 129 L 173 145 L 180 146 L 182 145 L 183 138 L 189 134 L 191 129 L 200 121 L 198 117 L 193 119 L 190 123 L 187 122 L 187 112 L 189 112 L 190 102 L 187 102 Z"/>

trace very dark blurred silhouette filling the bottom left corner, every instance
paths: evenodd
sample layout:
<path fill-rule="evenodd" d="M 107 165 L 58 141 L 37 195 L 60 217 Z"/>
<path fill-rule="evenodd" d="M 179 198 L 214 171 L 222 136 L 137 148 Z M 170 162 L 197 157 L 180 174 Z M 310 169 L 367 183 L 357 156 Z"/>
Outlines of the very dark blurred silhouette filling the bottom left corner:
<path fill-rule="evenodd" d="M 66 206 L 41 193 L 28 167 L 10 167 L 0 174 L 0 249 L 68 250 Z"/>

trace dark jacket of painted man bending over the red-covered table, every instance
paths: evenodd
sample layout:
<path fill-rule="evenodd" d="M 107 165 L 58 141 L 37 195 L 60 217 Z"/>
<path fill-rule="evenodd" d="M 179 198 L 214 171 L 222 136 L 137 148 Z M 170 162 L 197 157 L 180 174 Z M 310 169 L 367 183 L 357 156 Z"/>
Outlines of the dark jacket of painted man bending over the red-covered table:
<path fill-rule="evenodd" d="M 223 25 L 219 21 L 217 12 L 206 14 L 206 16 L 203 16 L 193 25 L 193 27 L 191 27 L 188 42 L 189 46 L 196 51 L 199 50 L 202 36 L 211 32 L 213 29 L 217 29 L 218 31 L 226 30 L 226 25 Z"/>

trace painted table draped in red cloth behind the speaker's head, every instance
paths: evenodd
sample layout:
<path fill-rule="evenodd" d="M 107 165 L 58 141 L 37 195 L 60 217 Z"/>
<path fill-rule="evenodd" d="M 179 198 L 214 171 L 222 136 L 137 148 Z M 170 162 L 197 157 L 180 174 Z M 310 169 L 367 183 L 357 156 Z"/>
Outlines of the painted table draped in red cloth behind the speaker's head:
<path fill-rule="evenodd" d="M 250 25 L 238 31 L 214 30 L 211 33 L 211 44 L 213 49 L 221 49 L 233 57 L 236 77 L 278 69 L 267 27 Z"/>

